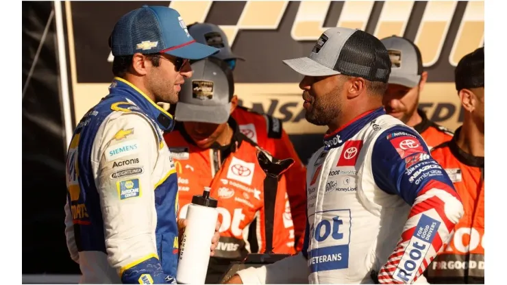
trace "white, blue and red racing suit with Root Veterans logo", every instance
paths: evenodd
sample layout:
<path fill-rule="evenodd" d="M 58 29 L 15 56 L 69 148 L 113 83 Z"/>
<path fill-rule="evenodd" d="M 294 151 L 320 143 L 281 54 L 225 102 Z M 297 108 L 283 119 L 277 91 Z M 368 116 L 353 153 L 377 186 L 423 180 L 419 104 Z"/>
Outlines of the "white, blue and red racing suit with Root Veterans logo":
<path fill-rule="evenodd" d="M 414 129 L 383 108 L 325 136 L 308 163 L 304 250 L 239 271 L 244 284 L 415 282 L 463 214 Z"/>

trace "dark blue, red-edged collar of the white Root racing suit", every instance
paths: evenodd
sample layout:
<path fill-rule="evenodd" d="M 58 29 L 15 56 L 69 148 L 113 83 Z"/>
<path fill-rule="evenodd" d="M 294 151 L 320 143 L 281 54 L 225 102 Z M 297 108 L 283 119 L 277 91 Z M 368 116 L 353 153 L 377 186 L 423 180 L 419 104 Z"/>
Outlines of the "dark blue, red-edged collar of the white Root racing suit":
<path fill-rule="evenodd" d="M 384 107 L 364 112 L 332 134 L 326 134 L 324 136 L 325 150 L 341 147 L 343 143 L 355 136 L 367 123 L 370 123 L 373 119 L 383 114 L 386 114 Z"/>

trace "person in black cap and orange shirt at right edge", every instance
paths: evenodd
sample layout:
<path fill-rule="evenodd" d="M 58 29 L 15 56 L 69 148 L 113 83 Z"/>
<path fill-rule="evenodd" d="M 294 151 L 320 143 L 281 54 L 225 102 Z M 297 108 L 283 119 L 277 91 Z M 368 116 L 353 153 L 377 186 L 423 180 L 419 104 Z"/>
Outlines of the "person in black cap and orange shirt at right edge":
<path fill-rule="evenodd" d="M 426 274 L 434 284 L 484 284 L 484 47 L 465 55 L 454 75 L 465 118 L 431 154 L 454 182 L 465 215 Z"/>

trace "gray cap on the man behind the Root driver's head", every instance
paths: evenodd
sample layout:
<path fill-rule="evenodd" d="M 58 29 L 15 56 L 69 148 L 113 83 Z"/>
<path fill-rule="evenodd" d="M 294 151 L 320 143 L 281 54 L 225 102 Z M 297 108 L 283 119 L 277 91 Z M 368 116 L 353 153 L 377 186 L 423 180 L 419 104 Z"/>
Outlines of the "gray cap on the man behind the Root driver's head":
<path fill-rule="evenodd" d="M 414 88 L 421 80 L 423 59 L 421 51 L 410 40 L 390 36 L 380 40 L 391 58 L 391 77 L 389 84 L 399 84 Z"/>

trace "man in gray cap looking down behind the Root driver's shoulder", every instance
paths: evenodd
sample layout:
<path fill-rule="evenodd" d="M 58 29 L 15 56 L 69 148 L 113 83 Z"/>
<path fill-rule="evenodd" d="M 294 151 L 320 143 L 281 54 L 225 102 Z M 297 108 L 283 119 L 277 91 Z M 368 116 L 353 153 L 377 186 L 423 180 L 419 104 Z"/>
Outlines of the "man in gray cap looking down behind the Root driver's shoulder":
<path fill-rule="evenodd" d="M 428 148 L 450 140 L 452 131 L 430 121 L 423 110 L 417 108 L 428 72 L 423 71 L 419 48 L 407 38 L 390 36 L 380 40 L 391 58 L 391 76 L 384 95 L 387 114 L 413 127 L 423 137 Z"/>

